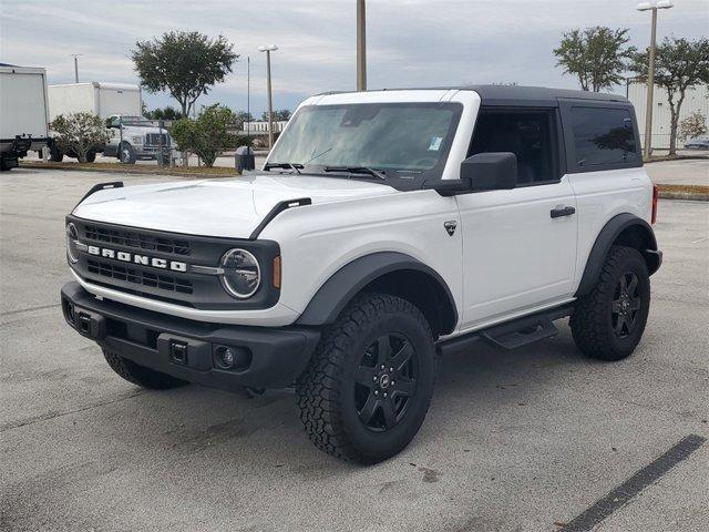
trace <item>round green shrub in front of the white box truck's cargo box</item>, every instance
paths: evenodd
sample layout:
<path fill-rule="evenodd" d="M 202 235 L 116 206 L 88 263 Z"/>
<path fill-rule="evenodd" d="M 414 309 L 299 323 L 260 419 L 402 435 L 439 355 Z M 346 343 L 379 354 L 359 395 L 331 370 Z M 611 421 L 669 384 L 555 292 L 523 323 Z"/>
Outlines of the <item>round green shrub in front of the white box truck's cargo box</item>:
<path fill-rule="evenodd" d="M 93 113 L 73 113 L 65 117 L 60 114 L 50 129 L 56 132 L 54 142 L 59 150 L 75 154 L 80 163 L 88 162 L 89 154 L 101 150 L 110 137 L 101 116 Z"/>

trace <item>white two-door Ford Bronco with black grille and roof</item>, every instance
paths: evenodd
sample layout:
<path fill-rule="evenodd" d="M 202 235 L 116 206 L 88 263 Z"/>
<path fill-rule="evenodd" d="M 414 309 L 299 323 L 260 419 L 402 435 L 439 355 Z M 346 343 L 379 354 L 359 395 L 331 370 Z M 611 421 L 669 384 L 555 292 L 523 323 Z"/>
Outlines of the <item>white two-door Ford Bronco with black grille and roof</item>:
<path fill-rule="evenodd" d="M 585 355 L 630 355 L 656 209 L 624 98 L 328 93 L 261 172 L 90 191 L 66 217 L 62 308 L 131 382 L 295 386 L 318 448 L 373 463 L 419 430 L 436 354 L 571 317 Z"/>

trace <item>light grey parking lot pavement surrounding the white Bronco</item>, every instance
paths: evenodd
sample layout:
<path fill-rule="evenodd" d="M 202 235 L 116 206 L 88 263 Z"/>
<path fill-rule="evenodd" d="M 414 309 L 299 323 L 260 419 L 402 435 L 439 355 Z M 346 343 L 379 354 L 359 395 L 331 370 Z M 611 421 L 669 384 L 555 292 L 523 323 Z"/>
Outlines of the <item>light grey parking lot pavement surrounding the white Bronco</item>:
<path fill-rule="evenodd" d="M 700 438 L 621 493 L 684 438 L 709 438 L 709 203 L 660 202 L 665 264 L 633 357 L 584 359 L 566 325 L 516 351 L 479 344 L 441 360 L 412 444 L 361 468 L 310 444 L 291 392 L 144 391 L 69 329 L 63 216 L 115 180 L 0 176 L 0 530 L 556 531 L 604 504 L 590 530 L 708 530 Z"/>

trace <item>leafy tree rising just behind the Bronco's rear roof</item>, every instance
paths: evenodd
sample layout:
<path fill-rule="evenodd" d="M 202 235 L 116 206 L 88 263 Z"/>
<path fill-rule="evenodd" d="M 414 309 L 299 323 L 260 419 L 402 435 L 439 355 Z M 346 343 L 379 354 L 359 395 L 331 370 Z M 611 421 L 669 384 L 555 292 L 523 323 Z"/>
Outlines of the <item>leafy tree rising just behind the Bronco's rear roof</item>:
<path fill-rule="evenodd" d="M 584 91 L 610 89 L 624 80 L 621 74 L 637 51 L 635 47 L 626 47 L 630 40 L 627 33 L 627 29 L 600 25 L 568 31 L 554 50 L 556 65 L 563 66 L 565 74 L 578 78 Z"/>

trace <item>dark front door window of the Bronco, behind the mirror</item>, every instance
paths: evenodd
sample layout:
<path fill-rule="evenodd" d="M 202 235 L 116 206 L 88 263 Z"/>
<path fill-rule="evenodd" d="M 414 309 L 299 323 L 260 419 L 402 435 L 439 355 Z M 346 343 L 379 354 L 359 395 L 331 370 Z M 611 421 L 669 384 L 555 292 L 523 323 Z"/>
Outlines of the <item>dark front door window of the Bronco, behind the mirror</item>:
<path fill-rule="evenodd" d="M 549 111 L 481 110 L 469 155 L 512 152 L 517 156 L 517 183 L 558 181 L 555 164 L 555 114 Z"/>

